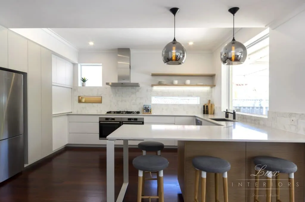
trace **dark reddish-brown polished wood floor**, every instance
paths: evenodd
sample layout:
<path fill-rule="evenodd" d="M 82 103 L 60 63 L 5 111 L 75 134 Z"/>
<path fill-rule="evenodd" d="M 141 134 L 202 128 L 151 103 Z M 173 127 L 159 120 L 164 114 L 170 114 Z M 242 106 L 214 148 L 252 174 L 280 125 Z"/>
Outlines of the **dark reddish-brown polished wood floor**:
<path fill-rule="evenodd" d="M 129 149 L 129 185 L 124 202 L 135 202 L 138 171 L 132 159 L 141 155 Z M 183 202 L 177 180 L 177 150 L 165 149 L 169 160 L 164 170 L 165 202 Z M 116 197 L 123 182 L 123 151 L 115 151 Z M 145 183 L 145 195 L 156 195 L 156 180 Z M 63 153 L 0 184 L 1 202 L 106 202 L 106 149 L 67 148 Z M 148 202 L 148 199 L 144 201 Z M 152 199 L 152 201 L 157 201 Z"/>

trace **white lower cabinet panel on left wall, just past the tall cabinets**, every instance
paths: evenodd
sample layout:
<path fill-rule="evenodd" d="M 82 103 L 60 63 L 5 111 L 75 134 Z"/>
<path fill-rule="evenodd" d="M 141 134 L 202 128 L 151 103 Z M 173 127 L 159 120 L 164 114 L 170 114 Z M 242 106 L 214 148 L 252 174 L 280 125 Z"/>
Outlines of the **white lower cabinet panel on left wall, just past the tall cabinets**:
<path fill-rule="evenodd" d="M 68 144 L 68 115 L 54 116 L 53 127 L 53 151 Z"/>

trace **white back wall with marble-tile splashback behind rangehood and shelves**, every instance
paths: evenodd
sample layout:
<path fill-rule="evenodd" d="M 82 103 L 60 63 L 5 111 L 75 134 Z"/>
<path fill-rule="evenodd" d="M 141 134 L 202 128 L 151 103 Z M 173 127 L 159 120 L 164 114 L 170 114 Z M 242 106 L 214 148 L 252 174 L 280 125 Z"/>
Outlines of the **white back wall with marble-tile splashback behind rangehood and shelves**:
<path fill-rule="evenodd" d="M 198 114 L 202 113 L 202 105 L 212 100 L 212 88 L 152 88 L 159 80 L 178 79 L 184 83 L 212 84 L 212 78 L 196 77 L 151 77 L 151 73 L 214 73 L 211 53 L 188 53 L 185 64 L 172 66 L 163 63 L 161 50 L 131 50 L 131 82 L 139 82 L 140 87 L 109 87 L 106 82 L 117 81 L 117 52 L 80 53 L 80 63 L 102 63 L 103 87 L 76 87 L 78 77 L 74 74 L 74 112 L 105 113 L 109 110 L 141 111 L 143 104 L 151 104 L 151 96 L 196 96 L 200 97 L 197 105 L 152 104 L 153 113 Z M 77 67 L 74 66 L 74 71 Z M 102 96 L 102 104 L 78 103 L 77 96 Z M 213 102 L 213 100 L 212 100 Z"/>

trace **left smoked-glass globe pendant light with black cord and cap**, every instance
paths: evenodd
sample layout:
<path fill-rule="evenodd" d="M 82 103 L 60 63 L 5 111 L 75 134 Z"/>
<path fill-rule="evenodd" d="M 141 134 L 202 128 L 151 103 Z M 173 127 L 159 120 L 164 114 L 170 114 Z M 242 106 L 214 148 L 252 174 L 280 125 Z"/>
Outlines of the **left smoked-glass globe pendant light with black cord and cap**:
<path fill-rule="evenodd" d="M 168 43 L 162 51 L 162 60 L 165 64 L 179 65 L 183 64 L 186 58 L 185 47 L 176 41 L 176 14 L 179 12 L 178 8 L 171 8 L 170 12 L 174 15 L 174 40 Z"/>

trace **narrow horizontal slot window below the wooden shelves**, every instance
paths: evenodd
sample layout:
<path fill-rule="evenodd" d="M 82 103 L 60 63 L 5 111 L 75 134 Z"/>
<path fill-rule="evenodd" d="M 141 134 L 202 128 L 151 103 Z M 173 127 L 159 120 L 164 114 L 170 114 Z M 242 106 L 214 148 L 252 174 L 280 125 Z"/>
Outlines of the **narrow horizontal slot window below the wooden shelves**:
<path fill-rule="evenodd" d="M 200 104 L 199 97 L 152 97 L 152 104 Z"/>

